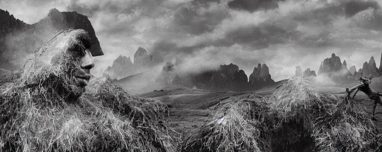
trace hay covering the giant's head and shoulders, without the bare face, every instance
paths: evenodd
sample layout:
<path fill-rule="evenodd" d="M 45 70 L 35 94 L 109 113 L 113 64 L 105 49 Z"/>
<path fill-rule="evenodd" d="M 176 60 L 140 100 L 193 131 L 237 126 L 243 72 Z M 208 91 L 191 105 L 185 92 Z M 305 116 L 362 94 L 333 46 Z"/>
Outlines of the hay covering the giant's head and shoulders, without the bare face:
<path fill-rule="evenodd" d="M 82 50 L 87 38 L 83 30 L 64 32 L 0 81 L 0 151 L 175 151 L 165 104 L 131 96 L 106 78 L 91 80 L 86 91 L 75 87 L 79 61 L 67 50 Z"/>

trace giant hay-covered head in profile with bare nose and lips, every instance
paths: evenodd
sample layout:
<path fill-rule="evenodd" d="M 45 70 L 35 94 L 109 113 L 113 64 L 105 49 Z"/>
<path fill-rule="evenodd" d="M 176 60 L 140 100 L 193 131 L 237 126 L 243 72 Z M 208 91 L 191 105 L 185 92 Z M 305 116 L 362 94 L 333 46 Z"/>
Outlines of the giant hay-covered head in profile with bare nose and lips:
<path fill-rule="evenodd" d="M 26 63 L 20 85 L 44 87 L 71 98 L 85 91 L 94 67 L 89 35 L 84 30 L 66 30 L 40 47 Z"/>

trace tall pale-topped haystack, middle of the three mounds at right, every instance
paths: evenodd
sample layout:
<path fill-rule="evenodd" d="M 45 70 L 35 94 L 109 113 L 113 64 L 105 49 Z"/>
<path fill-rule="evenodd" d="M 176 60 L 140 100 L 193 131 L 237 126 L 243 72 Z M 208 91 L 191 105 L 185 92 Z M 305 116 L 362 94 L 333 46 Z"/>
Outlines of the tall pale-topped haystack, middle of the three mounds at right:
<path fill-rule="evenodd" d="M 301 77 L 284 82 L 269 99 L 272 117 L 270 145 L 272 151 L 312 151 L 310 106 L 319 98 L 312 84 Z"/>

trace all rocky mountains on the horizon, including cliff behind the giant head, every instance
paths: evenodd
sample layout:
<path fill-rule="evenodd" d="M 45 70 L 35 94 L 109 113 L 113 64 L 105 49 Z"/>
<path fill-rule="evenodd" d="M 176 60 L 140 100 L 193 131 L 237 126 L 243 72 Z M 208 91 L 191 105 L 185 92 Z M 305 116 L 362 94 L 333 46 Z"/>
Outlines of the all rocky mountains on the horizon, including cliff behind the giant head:
<path fill-rule="evenodd" d="M 16 19 L 8 11 L 0 9 L 0 75 L 8 74 L 12 70 L 19 70 L 26 60 L 31 59 L 36 49 L 49 41 L 62 30 L 84 29 L 91 36 L 92 55 L 103 55 L 100 43 L 95 36 L 94 28 L 87 16 L 77 12 L 60 12 L 53 8 L 48 15 L 35 24 L 26 24 Z M 381 57 L 382 63 L 382 57 Z M 115 84 L 126 90 L 138 87 L 150 89 L 157 87 L 193 87 L 197 89 L 216 91 L 247 91 L 257 90 L 274 81 L 265 64 L 254 67 L 249 77 L 233 63 L 229 65 L 216 65 L 214 70 L 198 71 L 196 73 L 181 73 L 180 62 L 175 59 L 167 63 L 157 55 L 149 54 L 139 47 L 133 59 L 120 55 L 113 65 L 103 73 L 110 77 Z M 162 67 L 162 69 L 158 68 Z M 329 76 L 334 81 L 355 81 L 359 75 L 378 77 L 382 75 L 382 64 L 377 68 L 374 57 L 363 64 L 362 69 L 356 71 L 354 66 L 347 68 L 346 61 L 341 62 L 340 57 L 332 54 L 330 58 L 321 62 L 318 76 Z M 302 71 L 296 67 L 296 76 L 314 78 L 316 71 L 310 68 Z"/>

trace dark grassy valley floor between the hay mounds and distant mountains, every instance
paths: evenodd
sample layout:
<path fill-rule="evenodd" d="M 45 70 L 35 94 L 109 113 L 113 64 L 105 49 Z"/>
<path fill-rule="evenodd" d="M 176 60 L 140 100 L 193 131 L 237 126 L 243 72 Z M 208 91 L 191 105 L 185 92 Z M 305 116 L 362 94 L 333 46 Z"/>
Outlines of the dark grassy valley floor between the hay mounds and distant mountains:
<path fill-rule="evenodd" d="M 169 107 L 169 124 L 183 137 L 187 137 L 201 127 L 214 110 L 212 106 L 219 103 L 228 102 L 235 98 L 261 98 L 272 95 L 275 89 L 285 80 L 275 82 L 258 91 L 252 92 L 210 92 L 206 90 L 189 88 L 165 88 L 163 90 L 154 90 L 152 92 L 137 94 L 139 97 L 154 98 L 167 104 Z M 332 93 L 336 97 L 345 96 L 345 88 L 356 86 L 359 82 L 334 84 L 332 86 L 315 85 L 319 93 Z M 382 90 L 382 78 L 374 78 L 370 87 L 374 91 Z M 367 113 L 372 116 L 372 106 L 374 101 L 367 98 L 363 92 L 358 92 L 355 97 L 359 104 L 366 107 Z M 377 128 L 382 130 L 382 106 L 377 105 L 373 121 Z"/>

